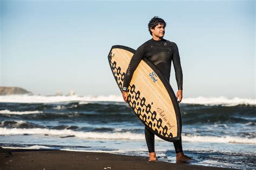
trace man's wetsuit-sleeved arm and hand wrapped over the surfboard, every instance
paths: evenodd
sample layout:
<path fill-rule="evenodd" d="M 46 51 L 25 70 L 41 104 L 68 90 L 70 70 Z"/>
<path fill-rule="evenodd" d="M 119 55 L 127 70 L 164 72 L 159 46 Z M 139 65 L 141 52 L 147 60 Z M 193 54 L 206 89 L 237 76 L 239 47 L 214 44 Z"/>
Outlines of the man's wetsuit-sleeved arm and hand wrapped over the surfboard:
<path fill-rule="evenodd" d="M 123 94 L 123 98 L 124 101 L 127 102 L 127 89 L 129 87 L 129 84 L 132 80 L 132 75 L 135 71 L 135 69 L 138 67 L 140 61 L 142 60 L 143 56 L 144 56 L 144 45 L 140 46 L 136 52 L 134 53 L 134 55 L 132 56 L 132 59 L 129 63 L 129 66 L 126 70 L 126 74 L 124 76 L 124 83 L 123 83 L 123 88 L 122 88 L 122 94 Z"/>

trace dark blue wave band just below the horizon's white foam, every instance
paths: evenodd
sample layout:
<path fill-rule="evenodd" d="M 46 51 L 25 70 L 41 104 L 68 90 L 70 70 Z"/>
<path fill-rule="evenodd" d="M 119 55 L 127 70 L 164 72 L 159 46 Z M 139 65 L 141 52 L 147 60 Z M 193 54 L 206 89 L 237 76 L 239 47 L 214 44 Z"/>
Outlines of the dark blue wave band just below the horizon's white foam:
<path fill-rule="evenodd" d="M 256 123 L 255 106 L 253 105 L 240 104 L 226 107 L 222 105 L 183 104 L 180 105 L 180 109 L 185 125 L 242 123 L 253 126 Z M 68 119 L 72 122 L 84 121 L 89 124 L 138 122 L 137 116 L 129 105 L 115 103 L 0 103 L 0 118 L 3 120 L 19 118 L 30 121 L 64 121 Z M 248 124 L 249 122 L 251 123 Z"/>

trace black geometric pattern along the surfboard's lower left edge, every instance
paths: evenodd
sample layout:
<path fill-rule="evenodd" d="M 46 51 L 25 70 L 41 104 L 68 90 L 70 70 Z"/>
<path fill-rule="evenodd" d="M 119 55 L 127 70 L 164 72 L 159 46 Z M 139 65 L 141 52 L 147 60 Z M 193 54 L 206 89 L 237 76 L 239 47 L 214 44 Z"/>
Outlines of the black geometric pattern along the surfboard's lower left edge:
<path fill-rule="evenodd" d="M 125 72 L 123 72 L 120 67 L 117 67 L 116 61 L 112 62 L 113 56 L 114 54 L 111 52 L 109 55 L 110 66 L 114 74 L 114 79 L 116 79 L 119 88 L 122 89 Z M 155 110 L 152 110 L 153 103 L 147 103 L 146 98 L 140 94 L 140 91 L 136 91 L 136 86 L 134 84 L 130 84 L 127 92 L 130 92 L 128 95 L 129 105 L 139 119 L 154 132 L 166 138 L 172 138 L 172 133 L 167 133 L 168 127 L 166 125 L 162 126 L 163 120 L 161 118 L 156 118 L 157 113 Z"/>

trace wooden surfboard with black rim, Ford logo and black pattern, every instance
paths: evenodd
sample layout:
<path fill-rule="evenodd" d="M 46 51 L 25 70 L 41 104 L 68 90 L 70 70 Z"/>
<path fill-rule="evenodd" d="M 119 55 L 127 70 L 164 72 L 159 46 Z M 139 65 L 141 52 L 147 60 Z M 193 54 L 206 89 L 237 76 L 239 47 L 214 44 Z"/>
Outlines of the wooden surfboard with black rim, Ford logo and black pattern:
<path fill-rule="evenodd" d="M 130 47 L 115 45 L 107 56 L 121 91 L 134 53 Z M 147 129 L 166 141 L 179 140 L 181 114 L 177 97 L 163 73 L 146 58 L 134 71 L 127 94 L 127 103 Z"/>

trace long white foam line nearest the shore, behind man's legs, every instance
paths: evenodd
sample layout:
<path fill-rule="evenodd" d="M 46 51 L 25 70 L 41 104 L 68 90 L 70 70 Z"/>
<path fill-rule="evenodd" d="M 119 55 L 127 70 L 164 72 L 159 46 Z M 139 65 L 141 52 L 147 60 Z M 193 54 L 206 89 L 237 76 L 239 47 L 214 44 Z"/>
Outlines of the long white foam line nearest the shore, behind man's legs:
<path fill-rule="evenodd" d="M 131 133 L 131 132 L 79 132 L 72 130 L 53 130 L 53 129 L 17 129 L 17 128 L 0 128 L 1 135 L 12 134 L 47 134 L 49 136 L 59 137 L 78 137 L 82 139 L 127 139 L 127 140 L 145 140 L 143 133 Z M 183 141 L 188 142 L 203 142 L 203 143 L 244 143 L 244 144 L 256 144 L 255 138 L 241 138 L 232 136 L 193 136 L 191 134 L 183 134 Z M 156 136 L 156 140 L 162 140 Z"/>

